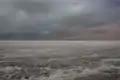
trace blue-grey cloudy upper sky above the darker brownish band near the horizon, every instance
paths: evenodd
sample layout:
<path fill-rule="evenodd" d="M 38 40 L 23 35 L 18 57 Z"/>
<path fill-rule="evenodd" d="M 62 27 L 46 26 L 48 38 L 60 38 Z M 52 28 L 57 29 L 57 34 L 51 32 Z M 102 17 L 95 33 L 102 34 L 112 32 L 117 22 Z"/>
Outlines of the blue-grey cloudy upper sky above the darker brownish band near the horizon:
<path fill-rule="evenodd" d="M 119 19 L 119 3 L 119 0 L 0 0 L 0 32 L 22 31 L 26 26 L 86 27 L 115 21 Z"/>

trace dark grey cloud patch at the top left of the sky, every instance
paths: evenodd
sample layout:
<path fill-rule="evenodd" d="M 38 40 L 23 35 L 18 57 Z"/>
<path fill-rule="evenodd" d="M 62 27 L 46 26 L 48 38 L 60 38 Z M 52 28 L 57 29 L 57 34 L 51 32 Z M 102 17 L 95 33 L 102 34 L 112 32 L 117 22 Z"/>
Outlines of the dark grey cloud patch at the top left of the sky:
<path fill-rule="evenodd" d="M 13 6 L 17 9 L 22 9 L 28 13 L 49 13 L 50 5 L 46 2 L 28 2 L 21 1 L 13 3 Z"/>

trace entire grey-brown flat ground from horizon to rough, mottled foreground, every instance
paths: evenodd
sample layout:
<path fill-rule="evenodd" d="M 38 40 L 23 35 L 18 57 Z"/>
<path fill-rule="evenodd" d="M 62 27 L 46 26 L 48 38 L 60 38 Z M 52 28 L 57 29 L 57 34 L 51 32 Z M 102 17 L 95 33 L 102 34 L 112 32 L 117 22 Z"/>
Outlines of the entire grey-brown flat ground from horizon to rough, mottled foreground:
<path fill-rule="evenodd" d="M 0 41 L 0 54 L 5 55 L 0 65 L 3 80 L 120 78 L 120 41 Z M 111 75 L 111 70 L 117 72 Z M 11 77 L 5 76 L 8 73 Z"/>

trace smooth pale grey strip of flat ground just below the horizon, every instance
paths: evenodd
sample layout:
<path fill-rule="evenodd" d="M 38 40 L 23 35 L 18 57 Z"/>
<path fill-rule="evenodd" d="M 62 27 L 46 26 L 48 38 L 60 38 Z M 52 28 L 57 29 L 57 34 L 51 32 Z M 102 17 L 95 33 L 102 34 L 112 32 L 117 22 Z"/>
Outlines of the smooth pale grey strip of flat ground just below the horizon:
<path fill-rule="evenodd" d="M 104 55 L 104 50 L 119 46 L 120 41 L 0 41 L 0 53 L 6 57 L 73 57 L 96 53 Z"/>

